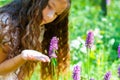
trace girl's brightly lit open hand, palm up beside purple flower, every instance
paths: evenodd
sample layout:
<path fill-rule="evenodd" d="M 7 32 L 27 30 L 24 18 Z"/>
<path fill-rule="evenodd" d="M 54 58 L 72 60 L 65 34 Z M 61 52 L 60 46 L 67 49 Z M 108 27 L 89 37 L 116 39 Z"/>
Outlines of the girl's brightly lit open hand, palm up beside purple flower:
<path fill-rule="evenodd" d="M 21 56 L 24 60 L 50 62 L 50 58 L 35 50 L 23 50 Z"/>

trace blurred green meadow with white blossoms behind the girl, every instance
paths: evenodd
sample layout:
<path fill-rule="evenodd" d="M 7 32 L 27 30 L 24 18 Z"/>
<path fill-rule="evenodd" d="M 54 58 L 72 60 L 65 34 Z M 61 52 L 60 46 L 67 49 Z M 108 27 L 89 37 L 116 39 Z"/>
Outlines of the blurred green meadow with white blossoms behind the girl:
<path fill-rule="evenodd" d="M 0 0 L 0 5 L 3 6 L 10 1 Z M 110 80 L 119 80 L 117 69 L 120 59 L 117 48 L 120 44 L 120 0 L 107 0 L 107 15 L 104 15 L 101 9 L 102 0 L 71 1 L 69 16 L 71 65 L 68 76 L 60 80 L 73 80 L 72 71 L 76 64 L 81 67 L 82 80 L 89 80 L 88 74 L 90 78 L 103 80 L 108 71 L 112 73 Z M 88 55 L 85 40 L 89 30 L 94 32 L 95 42 Z M 38 80 L 36 76 L 37 72 L 31 80 Z"/>

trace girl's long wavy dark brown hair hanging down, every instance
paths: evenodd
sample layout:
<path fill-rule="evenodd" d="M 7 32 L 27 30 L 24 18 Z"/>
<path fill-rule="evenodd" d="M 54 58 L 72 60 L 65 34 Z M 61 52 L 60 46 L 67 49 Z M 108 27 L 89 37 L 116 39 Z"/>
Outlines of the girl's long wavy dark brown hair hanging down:
<path fill-rule="evenodd" d="M 0 13 L 6 12 L 11 15 L 12 20 L 17 22 L 20 31 L 19 49 L 34 49 L 48 55 L 50 39 L 53 36 L 59 38 L 58 43 L 58 66 L 56 68 L 57 79 L 61 73 L 65 73 L 69 68 L 69 44 L 68 44 L 68 15 L 70 9 L 70 0 L 68 7 L 53 22 L 45 24 L 45 33 L 42 43 L 39 42 L 40 23 L 42 20 L 42 10 L 48 4 L 48 0 L 14 0 L 10 4 L 0 8 Z M 20 53 L 11 55 L 16 56 Z M 28 61 L 21 68 L 18 74 L 19 80 L 30 79 L 34 68 L 40 66 L 41 80 L 53 80 L 53 66 L 50 63 Z M 56 80 L 57 80 L 56 79 Z"/>

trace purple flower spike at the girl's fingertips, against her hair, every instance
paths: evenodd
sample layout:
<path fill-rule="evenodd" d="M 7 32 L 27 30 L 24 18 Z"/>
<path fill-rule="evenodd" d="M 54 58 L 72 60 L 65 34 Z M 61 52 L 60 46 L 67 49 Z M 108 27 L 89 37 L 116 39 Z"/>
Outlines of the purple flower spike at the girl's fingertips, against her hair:
<path fill-rule="evenodd" d="M 49 57 L 50 58 L 56 58 L 57 55 L 55 54 L 58 50 L 58 38 L 52 37 L 50 41 L 50 47 L 49 47 Z"/>

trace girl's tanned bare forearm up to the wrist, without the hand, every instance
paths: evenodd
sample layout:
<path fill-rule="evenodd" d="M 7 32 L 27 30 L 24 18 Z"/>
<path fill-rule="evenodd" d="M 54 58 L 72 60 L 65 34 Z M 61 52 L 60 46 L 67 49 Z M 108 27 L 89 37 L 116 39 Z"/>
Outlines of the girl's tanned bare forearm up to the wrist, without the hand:
<path fill-rule="evenodd" d="M 0 75 L 8 74 L 26 62 L 19 54 L 18 56 L 0 63 Z"/>

